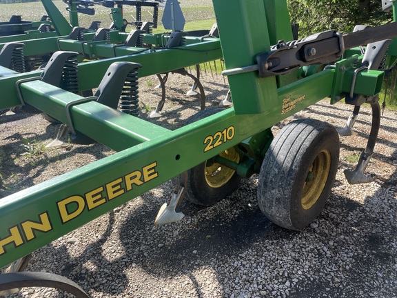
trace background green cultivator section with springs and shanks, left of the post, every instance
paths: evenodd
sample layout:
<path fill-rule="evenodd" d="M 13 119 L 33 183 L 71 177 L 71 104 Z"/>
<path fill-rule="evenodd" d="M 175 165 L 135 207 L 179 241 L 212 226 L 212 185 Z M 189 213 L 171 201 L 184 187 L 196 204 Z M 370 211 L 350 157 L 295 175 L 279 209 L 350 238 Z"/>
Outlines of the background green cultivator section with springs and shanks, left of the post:
<path fill-rule="evenodd" d="M 16 72 L 29 72 L 37 69 L 38 67 L 43 68 L 43 65 L 48 62 L 51 55 L 57 51 L 69 52 L 69 57 L 65 59 L 78 59 L 78 61 L 123 57 L 122 61 L 140 63 L 143 67 L 145 67 L 147 63 L 150 63 L 150 67 L 146 68 L 149 72 L 146 74 L 141 72 L 139 77 L 157 74 L 157 77 L 159 78 L 159 87 L 162 88 L 162 97 L 161 101 L 159 101 L 158 107 L 152 112 L 151 117 L 161 116 L 159 112 L 161 112 L 165 101 L 165 82 L 167 81 L 168 72 L 170 71 L 193 79 L 194 83 L 192 90 L 188 91 L 187 95 L 196 95 L 194 90 L 199 88 L 201 93 L 201 105 L 204 106 L 205 95 L 203 86 L 201 86 L 199 81 L 199 66 L 196 65 L 196 75 L 185 70 L 186 66 L 191 66 L 194 65 L 192 63 L 196 63 L 196 55 L 189 54 L 188 56 L 192 57 L 192 60 L 187 58 L 179 64 L 179 61 L 177 61 L 179 59 L 176 59 L 176 55 L 174 55 L 175 52 L 170 55 L 170 51 L 165 51 L 168 53 L 167 58 L 160 59 L 172 59 L 175 63 L 171 62 L 171 66 L 166 66 L 164 63 L 152 61 L 159 59 L 154 57 L 157 57 L 160 52 L 161 55 L 165 53 L 163 50 L 176 47 L 178 47 L 179 50 L 207 52 L 207 54 L 201 55 L 202 57 L 199 59 L 200 62 L 210 61 L 211 59 L 220 59 L 222 56 L 217 28 L 214 26 L 210 31 L 201 30 L 200 32 L 181 32 L 185 25 L 185 19 L 183 18 L 181 8 L 179 8 L 179 3 L 177 1 L 168 1 L 163 14 L 163 24 L 165 28 L 170 29 L 172 33 L 152 34 L 152 29 L 157 26 L 157 10 L 159 3 L 159 1 L 106 1 L 103 3 L 103 6 L 111 8 L 110 14 L 113 19 L 110 28 L 94 28 L 99 25 L 98 23 L 94 23 L 90 28 L 88 28 L 88 30 L 79 26 L 69 28 L 70 31 L 68 35 L 63 37 L 42 37 L 24 41 L 8 41 L 6 43 L 1 43 L 0 39 L 0 66 Z M 170 7 L 171 3 L 173 4 L 172 10 Z M 52 2 L 43 0 L 43 4 L 52 17 L 55 17 L 55 15 L 59 13 L 59 11 L 53 6 Z M 69 3 L 69 10 L 72 10 L 71 5 L 72 1 Z M 138 29 L 132 30 L 128 33 L 124 32 L 124 30 L 125 24 L 128 24 L 129 22 L 123 19 L 122 13 L 123 6 L 126 5 L 136 6 L 136 19 L 138 20 L 132 23 Z M 117 7 L 114 8 L 114 6 Z M 141 6 L 152 6 L 155 8 L 152 22 L 141 21 Z M 62 16 L 56 17 L 55 19 L 63 19 L 65 21 Z M 73 19 L 72 16 L 70 16 L 70 19 Z M 64 21 L 61 23 L 64 23 Z M 74 23 L 76 23 L 76 21 L 74 21 Z M 173 26 L 176 26 L 176 28 Z M 62 28 L 64 28 L 63 32 L 68 30 L 67 26 L 63 26 Z M 201 35 L 197 36 L 198 34 Z M 130 57 L 126 59 L 126 55 Z M 65 53 L 63 53 L 63 57 L 65 57 Z M 61 66 L 61 63 L 65 62 L 61 60 L 57 61 L 58 67 Z M 23 63 L 23 61 L 25 61 L 25 63 Z M 100 63 L 95 64 L 96 66 L 100 65 Z M 156 66 L 153 67 L 153 64 L 156 64 Z M 107 68 L 110 64 L 105 62 L 103 65 L 106 65 Z M 175 66 L 178 68 L 175 68 Z M 162 73 L 165 73 L 164 77 L 161 76 Z M 30 76 L 30 74 L 28 74 L 28 76 Z M 90 77 L 86 77 L 86 79 Z M 96 82 L 93 81 L 94 85 L 90 86 L 89 90 L 90 88 L 96 88 L 99 85 L 101 77 L 92 79 L 94 79 L 94 81 L 96 80 Z M 59 82 L 57 84 L 59 85 Z M 78 91 L 70 90 L 68 88 L 70 88 L 70 84 L 69 86 L 66 86 L 66 90 L 72 92 Z"/>

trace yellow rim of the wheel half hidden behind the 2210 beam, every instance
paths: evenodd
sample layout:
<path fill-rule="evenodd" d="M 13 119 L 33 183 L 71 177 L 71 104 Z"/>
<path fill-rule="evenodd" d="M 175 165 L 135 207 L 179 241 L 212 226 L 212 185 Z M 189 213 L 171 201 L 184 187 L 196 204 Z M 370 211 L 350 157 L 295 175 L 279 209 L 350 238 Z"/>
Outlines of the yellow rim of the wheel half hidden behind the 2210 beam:
<path fill-rule="evenodd" d="M 230 161 L 234 161 L 238 163 L 240 161 L 240 155 L 234 150 L 234 148 L 230 148 L 225 150 L 219 154 L 219 156 L 229 159 Z M 212 188 L 220 188 L 224 186 L 234 175 L 235 170 L 231 168 L 227 168 L 227 166 L 223 166 L 220 163 L 212 163 L 207 166 L 205 163 L 205 181 L 207 181 L 208 185 Z"/>

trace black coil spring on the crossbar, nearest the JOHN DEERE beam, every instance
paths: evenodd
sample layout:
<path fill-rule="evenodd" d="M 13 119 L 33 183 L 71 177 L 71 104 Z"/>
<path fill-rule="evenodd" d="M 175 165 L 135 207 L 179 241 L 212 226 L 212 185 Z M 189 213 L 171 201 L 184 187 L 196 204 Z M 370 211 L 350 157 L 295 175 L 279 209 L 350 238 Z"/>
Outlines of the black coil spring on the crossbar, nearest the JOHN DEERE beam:
<path fill-rule="evenodd" d="M 138 71 L 128 72 L 121 91 L 119 110 L 132 116 L 138 115 Z"/>

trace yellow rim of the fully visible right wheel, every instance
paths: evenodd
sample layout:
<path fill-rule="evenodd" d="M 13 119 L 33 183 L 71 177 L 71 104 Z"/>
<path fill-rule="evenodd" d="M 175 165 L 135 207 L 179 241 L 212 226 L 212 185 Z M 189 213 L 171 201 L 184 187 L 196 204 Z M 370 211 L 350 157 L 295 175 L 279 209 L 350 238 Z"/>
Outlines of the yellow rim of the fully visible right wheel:
<path fill-rule="evenodd" d="M 320 197 L 327 183 L 329 168 L 331 168 L 331 152 L 323 150 L 314 159 L 307 172 L 302 194 L 303 209 L 312 208 Z"/>

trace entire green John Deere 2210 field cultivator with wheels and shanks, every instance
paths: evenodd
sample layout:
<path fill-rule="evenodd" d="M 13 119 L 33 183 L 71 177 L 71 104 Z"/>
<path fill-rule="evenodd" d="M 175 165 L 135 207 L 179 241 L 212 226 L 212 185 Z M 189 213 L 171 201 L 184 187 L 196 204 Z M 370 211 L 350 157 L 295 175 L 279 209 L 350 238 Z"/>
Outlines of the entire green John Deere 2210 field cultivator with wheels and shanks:
<path fill-rule="evenodd" d="M 302 230 L 318 217 L 331 192 L 338 132 L 312 119 L 292 121 L 276 137 L 271 128 L 325 97 L 352 106 L 352 116 L 339 130 L 343 136 L 354 134 L 360 106 L 371 105 L 368 142 L 356 168 L 345 176 L 349 183 L 372 181 L 365 168 L 380 126 L 378 92 L 397 61 L 397 24 L 294 40 L 286 1 L 213 3 L 219 38 L 186 35 L 174 21 L 175 1 L 167 1 L 171 34 L 77 28 L 76 38 L 40 40 L 54 53 L 42 69 L 19 72 L 12 69 L 15 63 L 0 67 L 0 109 L 43 112 L 64 123 L 72 140 L 97 141 L 117 151 L 0 200 L 0 268 L 7 266 L 9 272 L 0 275 L 0 292 L 48 286 L 88 297 L 64 277 L 18 271 L 34 250 L 170 179 L 174 192 L 169 204 L 159 206 L 155 224 L 181 220 L 176 207 L 183 199 L 210 206 L 230 195 L 241 177 L 258 174 L 264 215 L 284 228 Z M 397 1 L 383 5 L 397 10 Z M 35 55 L 33 42 L 19 46 Z M 5 61 L 14 59 L 10 49 Z M 79 63 L 81 57 L 91 61 Z M 139 78 L 220 58 L 232 108 L 201 110 L 177 130 L 136 117 Z M 14 61 L 18 65 L 23 59 Z M 92 89 L 94 95 L 83 96 Z"/>

